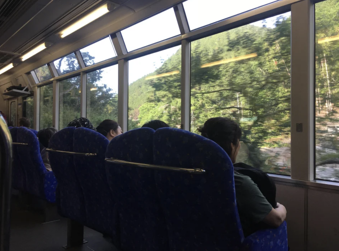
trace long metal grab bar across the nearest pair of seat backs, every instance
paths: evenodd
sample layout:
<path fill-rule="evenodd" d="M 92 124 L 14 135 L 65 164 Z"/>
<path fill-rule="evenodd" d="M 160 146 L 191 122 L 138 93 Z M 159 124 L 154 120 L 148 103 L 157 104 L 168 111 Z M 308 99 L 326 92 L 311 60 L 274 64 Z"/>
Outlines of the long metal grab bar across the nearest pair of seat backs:
<path fill-rule="evenodd" d="M 130 162 L 130 161 L 125 161 L 125 160 L 113 159 L 113 158 L 106 158 L 105 161 L 114 163 L 114 164 L 137 166 L 137 167 L 144 167 L 144 168 L 150 168 L 150 169 L 176 171 L 176 172 L 182 172 L 182 173 L 204 174 L 206 172 L 205 170 L 199 169 L 199 168 L 191 169 L 191 168 L 182 168 L 182 167 L 169 167 L 169 166 L 162 166 L 162 165 Z"/>

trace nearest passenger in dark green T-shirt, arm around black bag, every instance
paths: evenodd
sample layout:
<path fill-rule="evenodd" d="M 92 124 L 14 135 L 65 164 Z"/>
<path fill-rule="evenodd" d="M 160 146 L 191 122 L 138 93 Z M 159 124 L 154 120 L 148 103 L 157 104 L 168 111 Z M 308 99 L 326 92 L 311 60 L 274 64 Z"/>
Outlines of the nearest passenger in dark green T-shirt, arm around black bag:
<path fill-rule="evenodd" d="M 226 118 L 208 119 L 199 128 L 201 135 L 217 143 L 236 162 L 240 149 L 240 126 Z M 234 171 L 234 184 L 239 217 L 245 236 L 259 229 L 279 227 L 286 218 L 286 208 L 277 203 L 276 208 L 267 201 L 258 185 L 246 175 Z"/>

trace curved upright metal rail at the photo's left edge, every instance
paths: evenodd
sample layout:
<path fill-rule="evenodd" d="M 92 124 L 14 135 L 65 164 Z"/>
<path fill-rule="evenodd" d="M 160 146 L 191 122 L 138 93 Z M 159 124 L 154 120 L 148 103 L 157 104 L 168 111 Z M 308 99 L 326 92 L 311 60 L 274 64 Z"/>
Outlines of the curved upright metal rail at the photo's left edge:
<path fill-rule="evenodd" d="M 0 115 L 0 251 L 9 250 L 12 157 L 12 137 Z"/>

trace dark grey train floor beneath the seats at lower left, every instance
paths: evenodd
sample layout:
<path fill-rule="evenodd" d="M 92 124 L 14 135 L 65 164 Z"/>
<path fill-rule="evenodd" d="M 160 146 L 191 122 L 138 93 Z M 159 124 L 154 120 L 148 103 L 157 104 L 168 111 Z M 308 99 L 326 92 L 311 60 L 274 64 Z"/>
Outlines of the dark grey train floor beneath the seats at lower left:
<path fill-rule="evenodd" d="M 10 251 L 117 251 L 109 238 L 90 228 L 84 228 L 87 243 L 64 249 L 67 241 L 67 219 L 43 223 L 43 215 L 36 210 L 22 209 L 12 197 Z"/>

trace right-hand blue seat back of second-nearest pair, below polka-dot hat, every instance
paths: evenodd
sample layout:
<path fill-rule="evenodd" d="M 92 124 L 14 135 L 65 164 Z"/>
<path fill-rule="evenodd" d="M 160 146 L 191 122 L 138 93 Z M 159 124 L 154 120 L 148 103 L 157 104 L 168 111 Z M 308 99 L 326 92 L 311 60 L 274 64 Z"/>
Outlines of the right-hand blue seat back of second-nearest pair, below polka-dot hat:
<path fill-rule="evenodd" d="M 116 234 L 113 217 L 114 201 L 107 182 L 105 154 L 108 139 L 100 133 L 80 127 L 74 132 L 73 150 L 96 153 L 97 156 L 74 156 L 75 171 L 82 188 L 87 226 L 101 233 Z"/>

